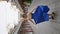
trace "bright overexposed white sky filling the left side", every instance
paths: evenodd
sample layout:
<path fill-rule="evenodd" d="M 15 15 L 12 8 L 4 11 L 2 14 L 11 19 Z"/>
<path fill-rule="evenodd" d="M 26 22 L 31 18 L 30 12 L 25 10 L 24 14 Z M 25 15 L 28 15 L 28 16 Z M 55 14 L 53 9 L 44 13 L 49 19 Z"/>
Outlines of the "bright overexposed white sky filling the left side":
<path fill-rule="evenodd" d="M 14 23 L 18 23 L 18 10 L 15 6 L 12 8 L 10 3 L 0 1 L 0 34 L 8 34 Z"/>

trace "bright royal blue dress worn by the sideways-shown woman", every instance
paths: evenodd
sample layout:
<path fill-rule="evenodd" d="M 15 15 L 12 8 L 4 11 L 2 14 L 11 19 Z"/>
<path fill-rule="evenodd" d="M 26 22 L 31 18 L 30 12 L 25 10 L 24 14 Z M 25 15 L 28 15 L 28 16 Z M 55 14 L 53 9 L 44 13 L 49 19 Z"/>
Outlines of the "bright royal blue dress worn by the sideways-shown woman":
<path fill-rule="evenodd" d="M 49 11 L 48 6 L 38 6 L 35 12 L 32 14 L 32 19 L 34 19 L 36 24 L 48 21 L 49 20 L 49 16 L 47 14 L 48 11 Z"/>

